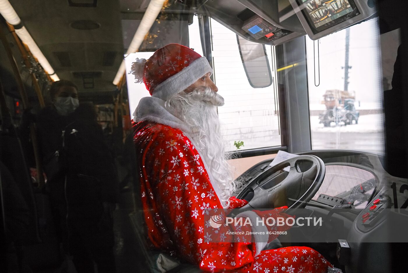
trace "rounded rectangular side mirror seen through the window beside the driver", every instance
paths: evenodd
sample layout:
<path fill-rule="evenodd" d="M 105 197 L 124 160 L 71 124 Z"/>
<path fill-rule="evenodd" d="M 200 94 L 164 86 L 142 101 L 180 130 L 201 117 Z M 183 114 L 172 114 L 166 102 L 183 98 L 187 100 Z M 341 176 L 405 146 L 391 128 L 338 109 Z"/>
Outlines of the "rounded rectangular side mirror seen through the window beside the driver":
<path fill-rule="evenodd" d="M 237 35 L 242 65 L 253 88 L 268 87 L 272 84 L 271 67 L 264 44 L 248 41 Z"/>

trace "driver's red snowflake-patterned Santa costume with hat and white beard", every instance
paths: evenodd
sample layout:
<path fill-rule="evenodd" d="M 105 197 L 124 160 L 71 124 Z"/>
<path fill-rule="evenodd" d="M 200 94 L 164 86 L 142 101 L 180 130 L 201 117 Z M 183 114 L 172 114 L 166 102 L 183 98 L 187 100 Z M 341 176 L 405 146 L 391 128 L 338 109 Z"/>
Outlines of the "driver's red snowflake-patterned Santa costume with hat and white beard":
<path fill-rule="evenodd" d="M 242 235 L 239 242 L 228 242 L 222 236 L 235 227 L 226 225 L 216 234 L 205 234 L 204 216 L 211 209 L 228 214 L 246 204 L 232 196 L 236 185 L 220 143 L 215 107 L 224 104 L 222 97 L 208 88 L 183 92 L 212 73 L 211 66 L 190 48 L 169 44 L 147 61 L 137 59 L 131 72 L 152 95 L 140 100 L 133 129 L 144 222 L 154 249 L 209 272 L 341 272 L 308 247 L 263 250 L 276 236 Z M 204 125 L 195 126 L 200 122 Z M 259 216 L 262 212 L 237 215 Z"/>

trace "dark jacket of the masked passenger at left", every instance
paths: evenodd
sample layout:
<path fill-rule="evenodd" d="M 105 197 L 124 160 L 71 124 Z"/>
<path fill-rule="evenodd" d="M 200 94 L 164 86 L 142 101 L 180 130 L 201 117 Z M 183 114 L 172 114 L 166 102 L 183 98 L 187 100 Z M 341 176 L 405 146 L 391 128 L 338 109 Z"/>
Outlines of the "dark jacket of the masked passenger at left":
<path fill-rule="evenodd" d="M 52 106 L 46 107 L 36 120 L 47 177 L 50 173 L 46 166 L 55 151 L 60 151 L 60 174 L 47 181 L 51 194 L 64 193 L 66 196 L 57 194 L 55 198 L 66 199 L 71 211 L 78 212 L 87 209 L 92 213 L 97 207 L 100 210 L 101 202 L 117 201 L 113 157 L 104 142 L 93 105 L 82 104 L 69 116 L 59 115 Z"/>

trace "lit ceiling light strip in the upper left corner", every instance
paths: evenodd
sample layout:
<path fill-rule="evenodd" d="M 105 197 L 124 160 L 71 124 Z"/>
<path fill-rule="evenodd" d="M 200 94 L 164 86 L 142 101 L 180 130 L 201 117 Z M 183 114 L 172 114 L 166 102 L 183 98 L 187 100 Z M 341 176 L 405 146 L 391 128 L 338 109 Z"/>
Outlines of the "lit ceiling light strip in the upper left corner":
<path fill-rule="evenodd" d="M 8 0 L 0 0 L 0 14 L 6 19 L 6 21 L 16 26 L 21 23 L 20 17 L 18 17 L 16 11 L 11 6 Z M 44 68 L 45 72 L 47 72 L 53 81 L 59 81 L 57 74 L 53 70 L 52 66 L 48 62 L 47 58 L 42 54 L 40 48 L 35 44 L 33 37 L 31 37 L 30 33 L 27 29 L 22 26 L 21 28 L 15 29 L 18 37 L 21 41 L 26 44 L 31 51 L 31 54 L 38 60 L 41 64 L 42 68 Z"/>

